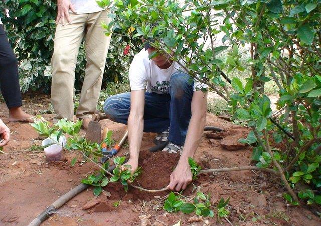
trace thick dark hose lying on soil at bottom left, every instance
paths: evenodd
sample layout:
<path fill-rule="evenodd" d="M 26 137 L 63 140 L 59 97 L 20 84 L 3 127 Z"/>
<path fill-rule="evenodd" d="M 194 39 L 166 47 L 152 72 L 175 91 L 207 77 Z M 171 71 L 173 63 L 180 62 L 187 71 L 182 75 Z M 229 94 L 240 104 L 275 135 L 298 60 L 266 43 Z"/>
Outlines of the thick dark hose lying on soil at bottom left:
<path fill-rule="evenodd" d="M 110 166 L 107 171 L 112 172 L 115 169 L 116 165 Z M 66 202 L 70 199 L 75 197 L 80 192 L 84 191 L 91 185 L 88 184 L 79 184 L 77 187 L 73 188 L 72 190 L 68 191 L 66 194 L 58 198 L 54 203 L 48 206 L 45 211 L 40 213 L 33 221 L 31 221 L 28 226 L 39 226 L 42 222 L 44 222 L 51 214 L 55 213 L 61 206 L 63 206 Z"/>

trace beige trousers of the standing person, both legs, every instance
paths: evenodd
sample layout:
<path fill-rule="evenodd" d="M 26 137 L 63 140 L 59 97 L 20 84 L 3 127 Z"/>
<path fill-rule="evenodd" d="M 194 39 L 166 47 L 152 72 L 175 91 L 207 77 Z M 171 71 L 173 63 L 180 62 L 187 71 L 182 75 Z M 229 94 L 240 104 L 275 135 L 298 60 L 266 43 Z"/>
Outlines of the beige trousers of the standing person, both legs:
<path fill-rule="evenodd" d="M 59 23 L 56 28 L 51 59 L 51 101 L 56 120 L 73 121 L 75 67 L 80 44 L 85 40 L 87 64 L 76 116 L 91 118 L 98 103 L 111 35 L 107 37 L 101 27 L 102 21 L 110 22 L 107 11 L 69 14 L 71 23 L 64 26 Z"/>

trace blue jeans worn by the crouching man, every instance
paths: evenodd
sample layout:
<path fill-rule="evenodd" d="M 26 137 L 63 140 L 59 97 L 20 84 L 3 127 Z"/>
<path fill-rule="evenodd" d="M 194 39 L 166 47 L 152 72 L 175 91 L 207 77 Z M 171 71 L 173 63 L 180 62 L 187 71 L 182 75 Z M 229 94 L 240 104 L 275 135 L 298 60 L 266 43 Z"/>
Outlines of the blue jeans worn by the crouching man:
<path fill-rule="evenodd" d="M 184 145 L 191 119 L 193 81 L 188 74 L 174 73 L 167 94 L 145 93 L 144 132 L 169 130 L 168 140 Z M 127 125 L 130 113 L 130 92 L 110 96 L 104 105 L 105 114 L 114 122 Z"/>

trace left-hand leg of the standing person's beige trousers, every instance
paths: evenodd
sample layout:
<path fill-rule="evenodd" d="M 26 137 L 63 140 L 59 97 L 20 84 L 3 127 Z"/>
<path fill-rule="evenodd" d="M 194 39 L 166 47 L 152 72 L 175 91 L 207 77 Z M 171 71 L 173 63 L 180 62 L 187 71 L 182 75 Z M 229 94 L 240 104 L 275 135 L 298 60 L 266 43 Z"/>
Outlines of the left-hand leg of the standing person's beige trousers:
<path fill-rule="evenodd" d="M 85 35 L 87 14 L 69 13 L 70 24 L 59 23 L 55 33 L 54 53 L 51 58 L 51 101 L 55 120 L 74 120 L 74 83 L 78 50 Z"/>

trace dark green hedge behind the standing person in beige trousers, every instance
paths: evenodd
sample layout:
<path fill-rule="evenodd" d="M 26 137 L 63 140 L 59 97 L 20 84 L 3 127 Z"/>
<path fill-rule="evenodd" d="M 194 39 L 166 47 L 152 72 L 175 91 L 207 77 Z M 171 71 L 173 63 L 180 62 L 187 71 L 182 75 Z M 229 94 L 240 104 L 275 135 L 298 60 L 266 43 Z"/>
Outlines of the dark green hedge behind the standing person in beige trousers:
<path fill-rule="evenodd" d="M 1 10 L 9 9 L 10 18 L 0 13 L 12 48 L 18 58 L 22 92 L 37 90 L 48 92 L 51 86 L 50 60 L 53 52 L 56 1 L 50 0 L 5 0 L 0 1 Z M 122 82 L 127 77 L 132 55 L 140 41 L 132 44 L 128 37 L 112 36 L 104 73 L 104 89 L 108 82 Z M 130 54 L 124 48 L 130 45 Z M 85 48 L 82 44 L 76 63 L 75 89 L 80 90 L 85 75 Z"/>

